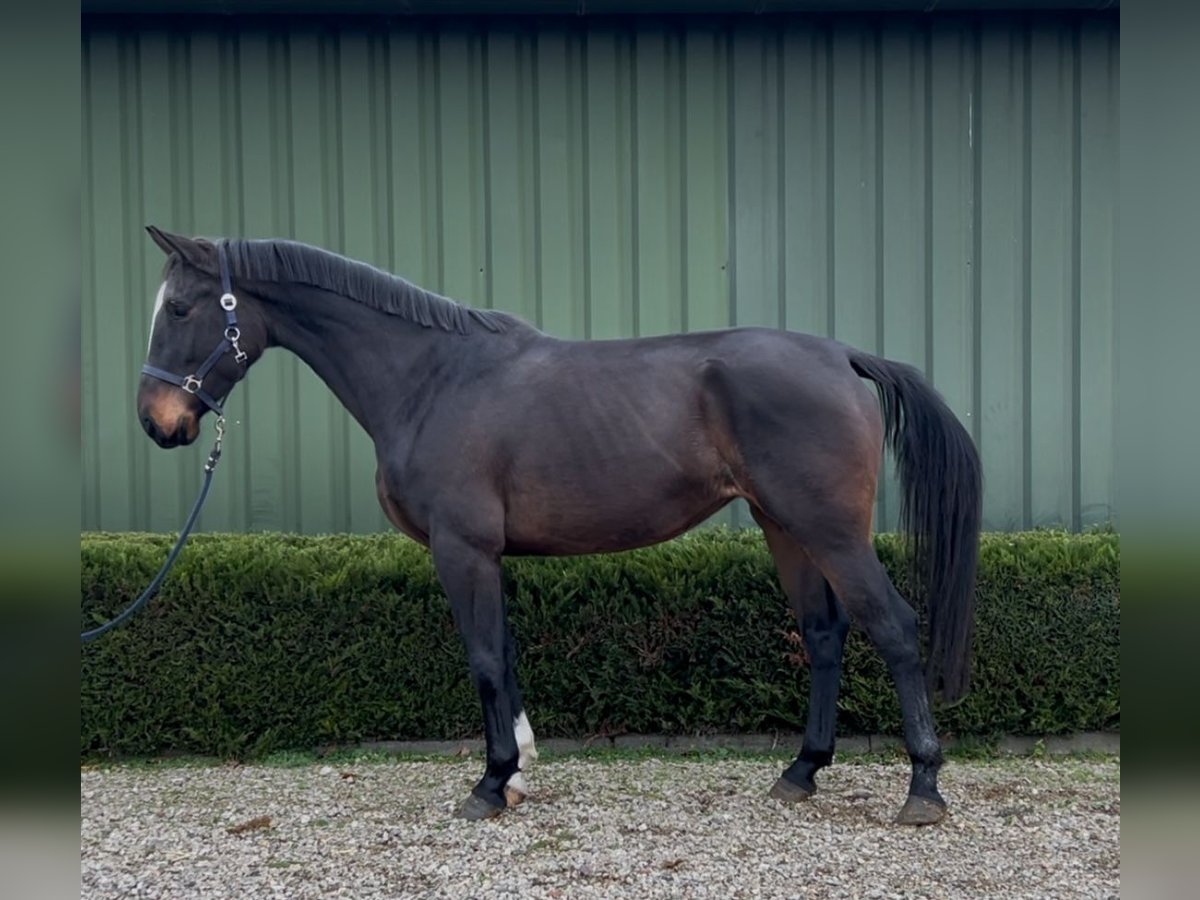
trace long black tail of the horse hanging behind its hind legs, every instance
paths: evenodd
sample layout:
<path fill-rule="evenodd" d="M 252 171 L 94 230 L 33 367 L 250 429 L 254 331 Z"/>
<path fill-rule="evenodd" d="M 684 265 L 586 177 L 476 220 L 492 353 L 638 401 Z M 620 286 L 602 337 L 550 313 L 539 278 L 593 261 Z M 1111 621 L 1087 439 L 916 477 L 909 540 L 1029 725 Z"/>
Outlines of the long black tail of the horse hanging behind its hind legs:
<path fill-rule="evenodd" d="M 878 388 L 884 437 L 904 488 L 900 524 L 910 536 L 911 592 L 929 608 L 929 684 L 953 702 L 967 692 L 971 674 L 979 455 L 967 430 L 916 368 L 853 349 L 850 365 Z"/>

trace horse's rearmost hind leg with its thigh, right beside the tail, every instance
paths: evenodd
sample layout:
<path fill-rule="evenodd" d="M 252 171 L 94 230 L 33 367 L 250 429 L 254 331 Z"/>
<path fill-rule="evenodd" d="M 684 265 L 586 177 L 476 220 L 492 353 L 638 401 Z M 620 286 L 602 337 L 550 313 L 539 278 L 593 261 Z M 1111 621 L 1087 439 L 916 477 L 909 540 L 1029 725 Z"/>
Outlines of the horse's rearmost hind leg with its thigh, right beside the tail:
<path fill-rule="evenodd" d="M 920 666 L 917 613 L 892 586 L 871 544 L 883 451 L 878 401 L 850 372 L 818 370 L 815 378 L 828 389 L 820 396 L 775 372 L 736 383 L 714 368 L 708 384 L 739 450 L 746 498 L 804 548 L 888 665 L 912 760 L 908 802 L 898 821 L 928 824 L 942 817 L 946 803 L 937 792 L 942 752 Z"/>

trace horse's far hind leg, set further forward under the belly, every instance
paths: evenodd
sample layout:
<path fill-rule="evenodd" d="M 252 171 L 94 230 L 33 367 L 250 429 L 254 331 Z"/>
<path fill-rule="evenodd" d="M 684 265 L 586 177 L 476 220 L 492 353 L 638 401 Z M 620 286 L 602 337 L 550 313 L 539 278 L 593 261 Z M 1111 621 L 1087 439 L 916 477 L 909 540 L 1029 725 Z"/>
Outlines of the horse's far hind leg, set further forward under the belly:
<path fill-rule="evenodd" d="M 818 769 L 833 762 L 838 686 L 850 620 L 804 548 L 762 512 L 752 512 L 767 536 L 780 583 L 809 654 L 811 682 L 804 743 L 796 762 L 787 767 L 770 788 L 770 796 L 775 799 L 797 802 L 808 799 L 816 792 L 814 776 Z"/>

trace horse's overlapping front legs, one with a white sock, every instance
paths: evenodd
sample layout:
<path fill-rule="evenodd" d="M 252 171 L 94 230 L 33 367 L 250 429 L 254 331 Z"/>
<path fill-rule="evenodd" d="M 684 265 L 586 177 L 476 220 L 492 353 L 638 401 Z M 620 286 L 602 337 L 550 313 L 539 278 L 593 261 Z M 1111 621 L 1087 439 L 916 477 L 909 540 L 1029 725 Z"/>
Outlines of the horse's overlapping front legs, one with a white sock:
<path fill-rule="evenodd" d="M 528 787 L 521 768 L 535 756 L 500 589 L 500 544 L 439 528 L 431 535 L 430 550 L 467 647 L 487 738 L 487 768 L 458 815 L 487 818 L 523 799 Z"/>

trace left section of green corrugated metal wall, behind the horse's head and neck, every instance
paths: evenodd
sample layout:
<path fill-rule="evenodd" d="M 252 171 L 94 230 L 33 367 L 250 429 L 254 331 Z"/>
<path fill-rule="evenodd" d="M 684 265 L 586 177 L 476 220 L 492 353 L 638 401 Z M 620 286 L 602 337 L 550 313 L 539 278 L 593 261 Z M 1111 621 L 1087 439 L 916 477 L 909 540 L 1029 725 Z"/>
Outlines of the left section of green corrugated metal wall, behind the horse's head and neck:
<path fill-rule="evenodd" d="M 470 26 L 84 38 L 84 527 L 178 527 L 199 449 L 131 406 L 160 251 L 142 227 L 287 235 L 564 336 L 721 325 L 725 35 Z M 385 528 L 367 438 L 305 366 L 234 392 L 202 527 Z"/>

